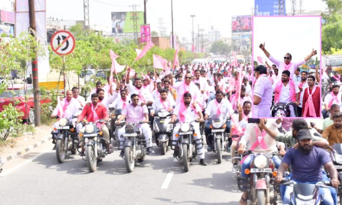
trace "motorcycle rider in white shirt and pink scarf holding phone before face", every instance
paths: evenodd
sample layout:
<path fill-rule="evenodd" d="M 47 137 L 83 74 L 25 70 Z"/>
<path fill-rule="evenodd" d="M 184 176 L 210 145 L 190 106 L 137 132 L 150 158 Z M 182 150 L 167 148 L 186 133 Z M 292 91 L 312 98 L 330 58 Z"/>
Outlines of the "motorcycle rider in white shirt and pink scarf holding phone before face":
<path fill-rule="evenodd" d="M 237 150 L 237 153 L 243 154 L 246 144 L 249 143 L 251 145 L 249 150 L 253 151 L 254 153 L 269 154 L 277 152 L 279 148 L 280 154 L 285 154 L 284 143 L 276 142 L 276 140 L 268 134 L 270 129 L 277 129 L 277 125 L 274 125 L 274 123 L 276 122 L 272 122 L 271 125 L 267 126 L 265 125 L 266 122 L 267 119 L 260 119 L 259 124 L 249 124 L 246 127 L 246 131 L 240 139 L 239 149 Z M 243 160 L 241 166 L 241 177 L 248 177 L 248 175 L 245 174 L 244 170 L 250 168 L 250 163 L 253 160 L 253 157 L 254 155 L 248 155 Z M 278 156 L 273 156 L 272 160 L 274 161 L 276 168 L 278 168 L 281 163 L 281 159 Z M 240 200 L 240 205 L 245 204 L 247 204 L 247 192 L 243 192 Z"/>

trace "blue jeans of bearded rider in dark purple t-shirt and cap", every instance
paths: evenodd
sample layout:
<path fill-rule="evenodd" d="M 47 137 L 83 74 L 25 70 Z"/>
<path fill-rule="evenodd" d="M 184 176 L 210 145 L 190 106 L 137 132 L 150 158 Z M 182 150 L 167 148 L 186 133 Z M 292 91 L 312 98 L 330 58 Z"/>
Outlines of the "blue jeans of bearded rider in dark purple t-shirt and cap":
<path fill-rule="evenodd" d="M 292 177 L 292 174 L 289 174 L 287 177 L 285 177 L 285 179 L 291 179 L 291 177 Z M 330 179 L 328 178 L 324 170 L 323 170 L 323 181 L 330 181 Z M 316 182 L 310 182 L 310 183 L 316 183 Z M 287 187 L 289 186 L 285 186 L 283 184 L 280 185 L 280 195 L 283 200 L 283 205 L 285 205 L 286 203 L 290 204 L 290 193 L 292 192 L 292 187 L 290 187 L 291 189 L 288 189 Z M 324 190 L 321 190 L 321 189 L 324 189 Z M 287 193 L 285 192 L 286 190 L 287 190 Z M 327 193 L 326 192 L 327 190 L 330 191 L 330 194 L 329 195 L 327 194 L 327 196 L 325 196 L 325 194 Z M 323 205 L 337 205 L 337 192 L 334 187 L 330 187 L 330 188 L 319 187 L 319 194 L 323 195 L 323 202 L 322 202 Z"/>

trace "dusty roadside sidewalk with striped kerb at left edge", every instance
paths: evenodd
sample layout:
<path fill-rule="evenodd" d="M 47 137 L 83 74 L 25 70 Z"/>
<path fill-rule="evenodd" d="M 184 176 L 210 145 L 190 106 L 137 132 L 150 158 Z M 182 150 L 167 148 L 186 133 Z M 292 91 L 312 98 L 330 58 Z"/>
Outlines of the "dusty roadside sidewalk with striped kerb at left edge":
<path fill-rule="evenodd" d="M 6 161 L 10 161 L 16 158 L 19 155 L 26 154 L 30 150 L 33 150 L 36 147 L 41 146 L 43 143 L 51 143 L 52 135 L 52 126 L 40 126 L 35 128 L 35 132 L 25 133 L 21 137 L 8 137 L 7 141 L 13 140 L 14 143 L 0 148 L 0 157 Z M 51 149 L 53 148 L 53 144 L 51 144 Z"/>

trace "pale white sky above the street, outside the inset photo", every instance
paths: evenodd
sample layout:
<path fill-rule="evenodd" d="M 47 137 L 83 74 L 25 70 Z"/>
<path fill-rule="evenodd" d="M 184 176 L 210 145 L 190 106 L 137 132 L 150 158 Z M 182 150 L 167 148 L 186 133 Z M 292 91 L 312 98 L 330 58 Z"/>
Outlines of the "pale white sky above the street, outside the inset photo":
<path fill-rule="evenodd" d="M 298 0 L 297 0 L 298 1 Z M 47 18 L 64 20 L 83 20 L 83 0 L 46 0 Z M 291 10 L 291 0 L 286 0 L 286 11 Z M 129 5 L 137 4 L 137 11 L 143 11 L 143 0 L 89 0 L 90 26 L 102 25 L 111 30 L 111 12 L 131 11 Z M 191 39 L 192 19 L 195 32 L 203 28 L 207 32 L 211 26 L 220 30 L 221 36 L 231 36 L 231 16 L 251 15 L 254 0 L 173 0 L 173 30 L 180 39 Z M 324 10 L 322 0 L 302 0 L 304 10 Z M 163 26 L 167 34 L 171 32 L 171 0 L 147 0 L 147 23 L 152 31 L 159 33 L 159 18 L 163 18 Z"/>

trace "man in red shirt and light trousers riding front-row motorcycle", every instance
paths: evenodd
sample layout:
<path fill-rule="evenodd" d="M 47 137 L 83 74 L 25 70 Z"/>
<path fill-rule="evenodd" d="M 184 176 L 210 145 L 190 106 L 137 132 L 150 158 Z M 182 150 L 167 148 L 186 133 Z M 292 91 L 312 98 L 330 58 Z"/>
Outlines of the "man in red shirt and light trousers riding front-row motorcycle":
<path fill-rule="evenodd" d="M 97 93 L 91 94 L 91 103 L 86 104 L 83 108 L 81 115 L 79 115 L 77 122 L 81 122 L 85 117 L 88 122 L 95 123 L 98 120 L 104 119 L 105 122 L 109 120 L 108 111 L 105 105 L 98 103 L 99 96 Z M 99 122 L 98 122 L 99 123 Z M 77 126 L 79 126 L 78 124 Z M 95 125 L 97 126 L 97 125 Z M 109 130 L 105 123 L 101 123 L 101 130 L 103 132 L 103 137 L 109 141 Z M 79 140 L 83 140 L 83 133 L 85 132 L 85 127 L 80 129 Z M 82 136 L 81 136 L 82 135 Z M 84 153 L 83 143 L 80 143 L 82 147 L 82 153 Z M 110 152 L 109 144 L 107 144 L 107 150 Z"/>

